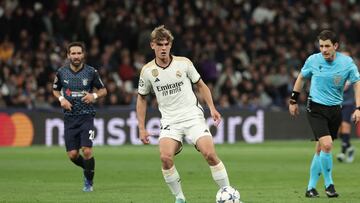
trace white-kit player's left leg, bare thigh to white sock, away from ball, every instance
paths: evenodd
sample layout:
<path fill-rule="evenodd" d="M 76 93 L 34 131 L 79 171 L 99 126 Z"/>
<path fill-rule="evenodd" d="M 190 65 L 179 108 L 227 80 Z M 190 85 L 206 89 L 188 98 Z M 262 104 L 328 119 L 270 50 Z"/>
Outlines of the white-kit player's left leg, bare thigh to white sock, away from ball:
<path fill-rule="evenodd" d="M 159 150 L 162 164 L 162 174 L 176 202 L 185 202 L 185 196 L 181 188 L 181 179 L 174 164 L 174 155 L 181 149 L 182 143 L 170 137 L 160 135 Z"/>

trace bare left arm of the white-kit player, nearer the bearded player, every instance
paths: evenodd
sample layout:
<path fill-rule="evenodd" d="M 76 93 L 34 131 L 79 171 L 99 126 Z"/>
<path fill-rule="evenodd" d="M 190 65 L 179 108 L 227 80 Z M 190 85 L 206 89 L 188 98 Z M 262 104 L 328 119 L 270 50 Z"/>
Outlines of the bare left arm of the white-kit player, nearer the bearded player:
<path fill-rule="evenodd" d="M 136 115 L 138 119 L 140 140 L 144 144 L 149 144 L 150 143 L 149 133 L 146 131 L 145 128 L 146 108 L 147 108 L 146 96 L 138 94 L 136 101 Z"/>

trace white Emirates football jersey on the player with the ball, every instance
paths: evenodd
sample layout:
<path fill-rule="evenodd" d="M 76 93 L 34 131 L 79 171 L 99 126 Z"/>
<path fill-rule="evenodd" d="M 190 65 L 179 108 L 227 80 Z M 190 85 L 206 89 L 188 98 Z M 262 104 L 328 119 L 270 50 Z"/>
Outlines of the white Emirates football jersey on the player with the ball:
<path fill-rule="evenodd" d="M 155 93 L 162 116 L 162 124 L 178 123 L 194 118 L 204 118 L 204 111 L 192 89 L 200 80 L 193 63 L 185 57 L 172 56 L 166 68 L 155 59 L 141 70 L 138 93 Z"/>

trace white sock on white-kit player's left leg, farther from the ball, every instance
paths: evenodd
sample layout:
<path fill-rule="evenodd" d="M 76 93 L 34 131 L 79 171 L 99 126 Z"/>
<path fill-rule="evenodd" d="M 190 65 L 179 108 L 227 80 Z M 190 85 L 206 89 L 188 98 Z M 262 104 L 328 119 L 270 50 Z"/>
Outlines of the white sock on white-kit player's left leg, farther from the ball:
<path fill-rule="evenodd" d="M 163 173 L 166 184 L 170 188 L 171 193 L 177 199 L 185 200 L 185 196 L 184 196 L 184 193 L 181 188 L 180 176 L 175 168 L 175 165 L 168 170 L 162 169 L 162 173 Z"/>

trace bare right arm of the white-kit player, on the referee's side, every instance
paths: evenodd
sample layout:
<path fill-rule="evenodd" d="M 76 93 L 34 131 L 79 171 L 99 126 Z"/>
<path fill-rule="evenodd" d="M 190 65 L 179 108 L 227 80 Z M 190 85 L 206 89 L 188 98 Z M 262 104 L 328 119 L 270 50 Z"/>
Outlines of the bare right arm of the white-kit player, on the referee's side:
<path fill-rule="evenodd" d="M 208 107 L 210 109 L 211 117 L 213 118 L 215 125 L 217 126 L 221 121 L 221 115 L 215 108 L 215 105 L 214 105 L 214 102 L 213 102 L 213 99 L 211 96 L 211 92 L 210 92 L 208 86 L 201 79 L 199 80 L 199 82 L 196 83 L 196 86 L 197 86 L 201 96 L 204 98 L 206 104 L 208 105 Z"/>

